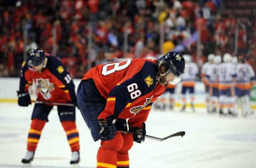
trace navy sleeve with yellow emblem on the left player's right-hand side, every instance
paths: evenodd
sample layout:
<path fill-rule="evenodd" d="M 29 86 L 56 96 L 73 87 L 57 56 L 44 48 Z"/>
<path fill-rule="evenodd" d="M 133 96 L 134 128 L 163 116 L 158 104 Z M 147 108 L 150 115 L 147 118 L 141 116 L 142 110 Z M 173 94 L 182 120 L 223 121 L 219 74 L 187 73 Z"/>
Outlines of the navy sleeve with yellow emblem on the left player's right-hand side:
<path fill-rule="evenodd" d="M 58 57 L 48 56 L 47 59 L 47 68 L 56 78 L 58 78 L 63 83 L 63 86 L 61 86 L 60 88 L 63 90 L 69 90 L 71 101 L 75 102 L 75 85 L 69 72 L 66 70 L 65 66 L 63 66 Z"/>

